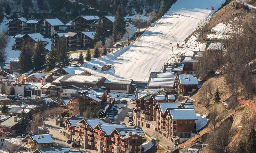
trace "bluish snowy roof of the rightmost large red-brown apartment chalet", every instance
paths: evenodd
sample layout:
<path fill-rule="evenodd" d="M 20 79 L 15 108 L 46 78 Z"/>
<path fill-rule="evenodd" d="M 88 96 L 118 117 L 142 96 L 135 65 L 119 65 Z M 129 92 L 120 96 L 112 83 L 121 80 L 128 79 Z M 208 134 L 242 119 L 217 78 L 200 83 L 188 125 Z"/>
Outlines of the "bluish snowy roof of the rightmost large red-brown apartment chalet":
<path fill-rule="evenodd" d="M 170 116 L 172 117 L 172 120 L 198 120 L 195 109 L 192 108 L 167 108 L 167 110 Z"/>

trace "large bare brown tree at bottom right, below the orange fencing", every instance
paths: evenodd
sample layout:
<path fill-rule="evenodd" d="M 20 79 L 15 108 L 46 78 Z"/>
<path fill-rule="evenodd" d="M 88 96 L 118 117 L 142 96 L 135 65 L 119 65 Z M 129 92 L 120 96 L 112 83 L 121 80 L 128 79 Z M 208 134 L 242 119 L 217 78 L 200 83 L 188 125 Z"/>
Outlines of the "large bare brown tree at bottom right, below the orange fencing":
<path fill-rule="evenodd" d="M 210 145 L 208 148 L 212 152 L 230 153 L 233 150 L 233 144 L 230 142 L 235 136 L 235 131 L 232 129 L 232 122 L 223 122 L 216 131 L 209 133 L 207 143 Z"/>

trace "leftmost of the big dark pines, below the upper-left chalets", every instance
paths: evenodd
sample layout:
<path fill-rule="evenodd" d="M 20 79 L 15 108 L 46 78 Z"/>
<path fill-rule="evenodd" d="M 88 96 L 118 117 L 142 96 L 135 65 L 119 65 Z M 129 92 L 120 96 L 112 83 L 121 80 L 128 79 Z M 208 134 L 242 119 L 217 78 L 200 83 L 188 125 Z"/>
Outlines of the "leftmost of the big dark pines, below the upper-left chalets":
<path fill-rule="evenodd" d="M 28 72 L 32 68 L 32 55 L 30 51 L 30 45 L 28 44 L 26 46 L 25 42 L 23 42 L 20 49 L 18 65 L 22 73 Z"/>

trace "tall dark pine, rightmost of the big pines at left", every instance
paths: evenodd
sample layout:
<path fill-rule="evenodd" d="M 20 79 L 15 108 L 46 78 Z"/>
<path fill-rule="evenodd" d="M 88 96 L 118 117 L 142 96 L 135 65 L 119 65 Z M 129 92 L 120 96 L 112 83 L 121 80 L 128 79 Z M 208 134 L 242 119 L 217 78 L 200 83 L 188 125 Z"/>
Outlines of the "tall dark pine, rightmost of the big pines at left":
<path fill-rule="evenodd" d="M 70 59 L 69 59 L 69 53 L 67 50 L 66 39 L 64 37 L 60 38 L 56 49 L 57 49 L 58 66 L 60 67 L 67 66 Z"/>

